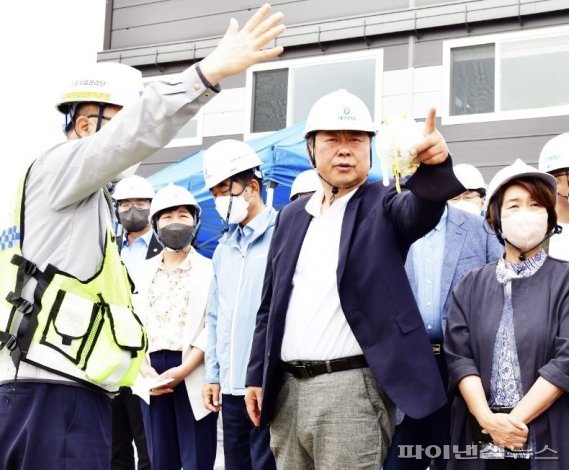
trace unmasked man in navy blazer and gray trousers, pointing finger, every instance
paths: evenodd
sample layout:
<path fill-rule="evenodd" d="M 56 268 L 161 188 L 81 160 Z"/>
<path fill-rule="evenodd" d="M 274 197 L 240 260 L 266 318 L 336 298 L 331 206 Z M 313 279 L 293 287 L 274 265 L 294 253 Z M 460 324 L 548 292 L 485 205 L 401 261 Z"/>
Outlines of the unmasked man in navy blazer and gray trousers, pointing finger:
<path fill-rule="evenodd" d="M 411 243 L 464 191 L 435 122 L 432 109 L 398 194 L 366 181 L 374 125 L 359 98 L 339 90 L 309 113 L 322 189 L 277 218 L 246 380 L 278 468 L 379 468 L 393 402 L 417 418 L 446 402 L 404 269 Z"/>

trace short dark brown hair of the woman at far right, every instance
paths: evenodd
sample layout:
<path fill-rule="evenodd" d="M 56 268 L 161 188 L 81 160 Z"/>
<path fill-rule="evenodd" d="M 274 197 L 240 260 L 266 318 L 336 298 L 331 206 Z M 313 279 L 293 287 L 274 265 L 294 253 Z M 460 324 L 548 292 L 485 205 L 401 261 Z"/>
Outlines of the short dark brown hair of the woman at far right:
<path fill-rule="evenodd" d="M 547 211 L 547 233 L 551 232 L 557 225 L 557 213 L 555 212 L 557 195 L 550 185 L 541 178 L 535 177 L 517 178 L 508 181 L 492 196 L 486 211 L 486 221 L 490 227 L 498 234 L 502 231 L 500 211 L 504 202 L 504 193 L 515 184 L 524 188 L 530 193 L 535 202 L 545 208 Z"/>

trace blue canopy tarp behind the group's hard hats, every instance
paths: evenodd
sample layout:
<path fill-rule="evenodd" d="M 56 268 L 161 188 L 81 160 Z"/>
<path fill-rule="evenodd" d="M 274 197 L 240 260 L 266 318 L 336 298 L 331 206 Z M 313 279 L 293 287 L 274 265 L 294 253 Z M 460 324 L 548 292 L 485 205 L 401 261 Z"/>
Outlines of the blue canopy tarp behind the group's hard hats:
<path fill-rule="evenodd" d="M 296 175 L 311 167 L 306 155 L 304 126 L 304 122 L 300 122 L 271 135 L 247 141 L 263 161 L 261 170 L 265 185 L 269 181 L 276 184 L 273 207 L 277 210 L 288 203 L 290 186 Z M 375 181 L 381 179 L 381 166 L 375 149 L 372 159 L 369 178 Z M 202 163 L 203 150 L 200 150 L 154 173 L 148 180 L 155 190 L 174 183 L 191 191 L 202 208 L 202 223 L 196 248 L 201 254 L 211 257 L 221 236 L 223 224 L 215 210 L 213 198 L 205 187 Z"/>

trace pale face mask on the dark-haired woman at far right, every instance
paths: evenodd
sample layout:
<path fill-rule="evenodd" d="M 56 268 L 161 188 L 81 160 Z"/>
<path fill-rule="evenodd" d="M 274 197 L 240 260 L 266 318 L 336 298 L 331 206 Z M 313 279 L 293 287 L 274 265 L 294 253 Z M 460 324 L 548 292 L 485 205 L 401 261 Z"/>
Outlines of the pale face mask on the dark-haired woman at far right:
<path fill-rule="evenodd" d="M 521 251 L 537 246 L 547 233 L 547 211 L 519 210 L 502 218 L 502 238 Z"/>

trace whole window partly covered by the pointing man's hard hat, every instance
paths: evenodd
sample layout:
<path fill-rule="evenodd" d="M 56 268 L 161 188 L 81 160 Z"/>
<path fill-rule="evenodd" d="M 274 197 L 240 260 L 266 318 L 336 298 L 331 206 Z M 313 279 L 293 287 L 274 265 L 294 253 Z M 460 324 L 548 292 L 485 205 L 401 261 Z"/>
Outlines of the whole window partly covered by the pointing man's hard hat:
<path fill-rule="evenodd" d="M 321 96 L 345 88 L 381 116 L 381 50 L 260 64 L 247 72 L 245 138 L 304 121 Z"/>

